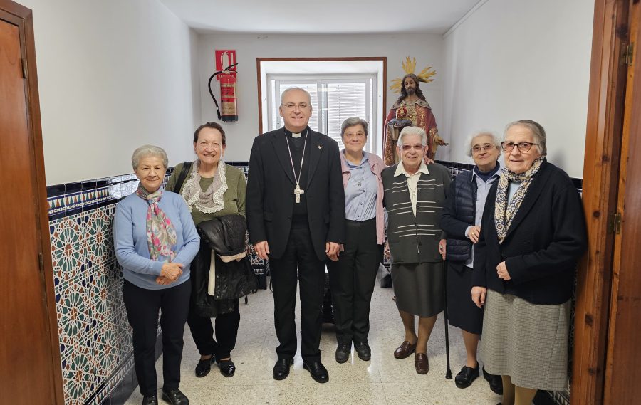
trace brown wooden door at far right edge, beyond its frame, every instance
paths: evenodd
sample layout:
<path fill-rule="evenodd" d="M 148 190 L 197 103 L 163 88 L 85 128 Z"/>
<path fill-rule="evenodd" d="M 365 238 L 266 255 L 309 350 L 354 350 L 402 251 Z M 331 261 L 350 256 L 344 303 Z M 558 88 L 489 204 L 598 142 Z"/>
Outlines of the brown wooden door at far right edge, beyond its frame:
<path fill-rule="evenodd" d="M 627 73 L 603 404 L 641 403 L 641 4 L 630 1 Z M 625 52 L 624 52 L 625 53 Z M 631 61 L 631 62 L 630 62 Z"/>

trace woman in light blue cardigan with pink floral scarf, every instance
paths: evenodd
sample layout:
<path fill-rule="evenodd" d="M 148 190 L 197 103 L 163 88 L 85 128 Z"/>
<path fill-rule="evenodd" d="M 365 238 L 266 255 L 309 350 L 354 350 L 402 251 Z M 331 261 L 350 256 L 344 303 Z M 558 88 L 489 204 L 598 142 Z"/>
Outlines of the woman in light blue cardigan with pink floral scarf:
<path fill-rule="evenodd" d="M 189 263 L 200 238 L 184 199 L 161 189 L 167 154 L 139 147 L 131 158 L 140 184 L 116 206 L 115 255 L 123 266 L 123 300 L 133 329 L 134 364 L 142 404 L 157 404 L 155 343 L 158 313 L 162 329 L 162 397 L 189 404 L 179 390 L 182 335 L 189 310 Z"/>

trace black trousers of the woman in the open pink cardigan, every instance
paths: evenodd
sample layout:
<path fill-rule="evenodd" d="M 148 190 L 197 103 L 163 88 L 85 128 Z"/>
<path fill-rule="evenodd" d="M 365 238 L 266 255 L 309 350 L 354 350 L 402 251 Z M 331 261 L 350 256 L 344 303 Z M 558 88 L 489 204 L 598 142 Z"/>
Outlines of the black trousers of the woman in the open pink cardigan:
<path fill-rule="evenodd" d="M 328 262 L 336 340 L 367 342 L 370 303 L 383 253 L 376 243 L 376 219 L 345 221 L 343 248 L 338 261 Z"/>

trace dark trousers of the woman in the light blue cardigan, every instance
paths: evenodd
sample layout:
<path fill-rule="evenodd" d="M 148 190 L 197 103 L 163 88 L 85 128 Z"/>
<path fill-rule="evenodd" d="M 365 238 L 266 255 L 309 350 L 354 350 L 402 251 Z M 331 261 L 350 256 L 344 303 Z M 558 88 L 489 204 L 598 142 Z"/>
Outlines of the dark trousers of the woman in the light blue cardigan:
<path fill-rule="evenodd" d="M 191 280 L 163 290 L 147 290 L 125 280 L 123 300 L 133 328 L 134 365 L 142 395 L 153 395 L 158 390 L 155 345 L 159 310 L 163 388 L 178 389 L 180 385 L 182 335 L 191 291 Z"/>

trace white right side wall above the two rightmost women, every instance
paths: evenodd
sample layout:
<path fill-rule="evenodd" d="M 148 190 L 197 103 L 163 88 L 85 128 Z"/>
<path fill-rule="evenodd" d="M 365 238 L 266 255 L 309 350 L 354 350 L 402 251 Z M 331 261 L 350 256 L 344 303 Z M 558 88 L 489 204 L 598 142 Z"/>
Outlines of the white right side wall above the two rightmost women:
<path fill-rule="evenodd" d="M 489 0 L 446 36 L 439 130 L 452 144 L 439 158 L 471 162 L 472 132 L 502 135 L 528 118 L 546 128 L 548 160 L 583 177 L 593 9 L 588 0 Z"/>

